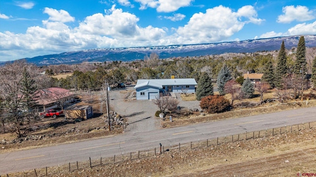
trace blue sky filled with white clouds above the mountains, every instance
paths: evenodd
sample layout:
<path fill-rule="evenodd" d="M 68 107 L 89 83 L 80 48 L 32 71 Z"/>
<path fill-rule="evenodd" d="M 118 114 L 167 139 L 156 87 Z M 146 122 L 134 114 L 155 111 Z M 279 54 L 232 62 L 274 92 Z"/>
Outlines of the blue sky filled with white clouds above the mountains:
<path fill-rule="evenodd" d="M 0 0 L 0 61 L 303 34 L 315 0 Z"/>

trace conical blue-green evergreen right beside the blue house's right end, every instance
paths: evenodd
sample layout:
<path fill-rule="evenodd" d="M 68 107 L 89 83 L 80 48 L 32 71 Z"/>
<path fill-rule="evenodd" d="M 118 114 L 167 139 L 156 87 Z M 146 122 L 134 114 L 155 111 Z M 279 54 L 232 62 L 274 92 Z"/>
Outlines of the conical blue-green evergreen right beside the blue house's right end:
<path fill-rule="evenodd" d="M 197 83 L 196 97 L 201 100 L 208 95 L 214 95 L 212 80 L 206 72 L 202 72 Z"/>

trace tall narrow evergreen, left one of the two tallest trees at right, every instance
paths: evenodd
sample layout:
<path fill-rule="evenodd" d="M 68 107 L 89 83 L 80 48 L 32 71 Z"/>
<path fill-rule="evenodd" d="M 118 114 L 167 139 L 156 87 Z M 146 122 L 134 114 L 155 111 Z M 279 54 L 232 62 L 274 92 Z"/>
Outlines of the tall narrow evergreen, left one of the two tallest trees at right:
<path fill-rule="evenodd" d="M 286 73 L 287 73 L 286 51 L 285 51 L 284 41 L 282 41 L 281 48 L 277 56 L 277 62 L 276 62 L 275 84 L 277 88 L 281 87 L 282 85 L 281 81 L 284 78 Z"/>

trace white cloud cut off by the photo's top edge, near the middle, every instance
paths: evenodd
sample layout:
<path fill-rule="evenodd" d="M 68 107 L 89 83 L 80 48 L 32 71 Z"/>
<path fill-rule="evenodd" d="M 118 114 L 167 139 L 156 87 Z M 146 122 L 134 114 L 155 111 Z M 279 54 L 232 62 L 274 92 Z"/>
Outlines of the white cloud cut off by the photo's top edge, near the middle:
<path fill-rule="evenodd" d="M 147 7 L 157 8 L 157 12 L 174 12 L 181 7 L 186 7 L 194 0 L 135 0 L 139 2 L 141 10 Z"/>

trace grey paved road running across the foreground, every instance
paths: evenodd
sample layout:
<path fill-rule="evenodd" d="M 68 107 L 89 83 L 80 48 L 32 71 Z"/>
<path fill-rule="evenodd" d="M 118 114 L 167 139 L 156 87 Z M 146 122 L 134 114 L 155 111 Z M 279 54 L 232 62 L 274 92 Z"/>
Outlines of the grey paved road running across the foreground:
<path fill-rule="evenodd" d="M 206 122 L 176 128 L 155 129 L 148 132 L 126 133 L 116 137 L 91 140 L 47 148 L 37 148 L 0 154 L 0 175 L 34 168 L 44 168 L 88 160 L 113 157 L 114 154 L 128 154 L 148 148 L 190 141 L 206 140 L 265 130 L 302 122 L 316 121 L 316 108 L 304 108 L 278 113 Z"/>

